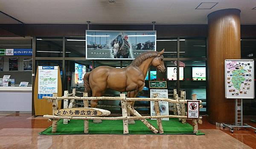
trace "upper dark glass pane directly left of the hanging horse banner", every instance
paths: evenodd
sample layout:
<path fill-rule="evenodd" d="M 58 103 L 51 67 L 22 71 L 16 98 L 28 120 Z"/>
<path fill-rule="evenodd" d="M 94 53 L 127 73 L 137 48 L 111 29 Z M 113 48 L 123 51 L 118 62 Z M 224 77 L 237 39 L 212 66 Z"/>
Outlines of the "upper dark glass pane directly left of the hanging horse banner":
<path fill-rule="evenodd" d="M 66 37 L 65 56 L 85 57 L 85 37 Z"/>

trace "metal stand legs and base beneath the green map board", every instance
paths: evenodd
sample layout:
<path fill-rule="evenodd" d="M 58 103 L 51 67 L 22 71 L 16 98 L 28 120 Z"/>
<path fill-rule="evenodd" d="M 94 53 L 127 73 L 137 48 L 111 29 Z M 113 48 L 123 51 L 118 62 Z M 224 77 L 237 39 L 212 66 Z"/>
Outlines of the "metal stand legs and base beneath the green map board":
<path fill-rule="evenodd" d="M 234 132 L 234 128 L 252 128 L 256 133 L 255 127 L 243 123 L 243 99 L 236 99 L 235 114 L 235 125 L 228 125 L 223 123 L 223 128 L 228 127 L 232 133 Z"/>

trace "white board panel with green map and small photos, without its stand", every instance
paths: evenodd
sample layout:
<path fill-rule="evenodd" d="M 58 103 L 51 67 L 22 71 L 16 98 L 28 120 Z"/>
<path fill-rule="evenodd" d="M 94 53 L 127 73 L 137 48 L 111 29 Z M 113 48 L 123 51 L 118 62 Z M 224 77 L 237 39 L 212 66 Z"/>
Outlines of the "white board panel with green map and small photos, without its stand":
<path fill-rule="evenodd" d="M 251 59 L 225 60 L 226 98 L 254 98 L 254 61 Z"/>

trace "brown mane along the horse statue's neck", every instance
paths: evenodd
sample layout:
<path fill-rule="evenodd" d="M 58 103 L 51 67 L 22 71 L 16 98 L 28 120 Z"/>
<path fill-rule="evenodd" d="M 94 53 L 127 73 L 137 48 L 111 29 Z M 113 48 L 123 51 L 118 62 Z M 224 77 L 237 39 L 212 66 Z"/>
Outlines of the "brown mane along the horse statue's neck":
<path fill-rule="evenodd" d="M 147 51 L 139 56 L 137 56 L 132 62 L 131 65 L 135 67 L 139 67 L 146 59 L 149 59 L 151 57 L 157 57 L 159 52 L 157 51 Z M 161 55 L 162 56 L 162 55 Z"/>

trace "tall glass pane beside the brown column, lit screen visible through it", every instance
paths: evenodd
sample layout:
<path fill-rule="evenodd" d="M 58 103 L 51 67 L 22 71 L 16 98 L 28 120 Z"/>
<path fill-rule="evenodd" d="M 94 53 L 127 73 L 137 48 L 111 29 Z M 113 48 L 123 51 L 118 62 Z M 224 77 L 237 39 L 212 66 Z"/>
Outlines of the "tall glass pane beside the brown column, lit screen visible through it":
<path fill-rule="evenodd" d="M 184 65 L 184 80 L 180 81 L 180 90 L 186 91 L 186 99 L 192 99 L 192 94 L 202 100 L 203 109 L 206 111 L 206 61 L 182 61 Z"/>

